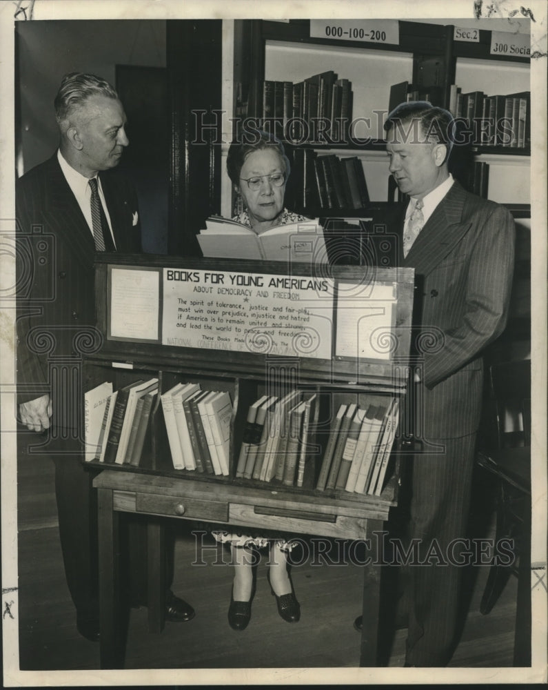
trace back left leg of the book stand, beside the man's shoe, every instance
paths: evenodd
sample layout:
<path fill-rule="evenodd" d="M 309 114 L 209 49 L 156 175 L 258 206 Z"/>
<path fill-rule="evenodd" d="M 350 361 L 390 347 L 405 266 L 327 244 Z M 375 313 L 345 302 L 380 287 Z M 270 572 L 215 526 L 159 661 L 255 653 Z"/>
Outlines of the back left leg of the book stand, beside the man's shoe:
<path fill-rule="evenodd" d="M 148 630 L 161 633 L 165 626 L 165 527 L 160 520 L 147 525 Z"/>

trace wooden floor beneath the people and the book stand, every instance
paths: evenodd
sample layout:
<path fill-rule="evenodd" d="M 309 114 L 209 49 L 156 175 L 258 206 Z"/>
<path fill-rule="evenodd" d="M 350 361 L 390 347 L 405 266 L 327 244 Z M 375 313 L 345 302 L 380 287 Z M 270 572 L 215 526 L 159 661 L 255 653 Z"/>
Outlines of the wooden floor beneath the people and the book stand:
<path fill-rule="evenodd" d="M 219 562 L 214 542 L 196 558 L 188 523 L 176 541 L 174 591 L 192 603 L 196 618 L 167 623 L 148 633 L 146 609 L 132 610 L 126 669 L 245 669 L 357 667 L 358 633 L 352 622 L 361 606 L 358 565 L 313 564 L 293 569 L 301 621 L 279 618 L 265 564 L 258 569 L 252 620 L 245 631 L 227 623 L 232 569 Z M 336 550 L 330 552 L 332 558 Z M 342 559 L 339 559 L 342 560 Z M 215 563 L 217 561 L 217 563 Z M 192 565 L 191 565 L 192 564 Z M 479 613 L 487 568 L 465 572 L 463 629 L 451 667 L 510 667 L 514 648 L 516 580 L 509 580 L 496 607 Z M 65 584 L 55 513 L 53 471 L 48 460 L 19 460 L 19 659 L 25 670 L 98 669 L 99 646 L 77 633 Z M 406 631 L 383 647 L 385 665 L 403 666 Z"/>

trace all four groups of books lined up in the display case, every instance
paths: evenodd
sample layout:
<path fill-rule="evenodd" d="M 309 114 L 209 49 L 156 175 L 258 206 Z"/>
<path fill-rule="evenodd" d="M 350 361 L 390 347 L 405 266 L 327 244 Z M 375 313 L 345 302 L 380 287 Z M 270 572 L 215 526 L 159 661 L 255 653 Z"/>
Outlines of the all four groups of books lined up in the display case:
<path fill-rule="evenodd" d="M 85 460 L 139 466 L 158 379 L 119 391 L 104 382 L 85 393 Z M 174 469 L 230 474 L 232 400 L 227 391 L 177 383 L 160 395 Z M 316 489 L 380 495 L 396 427 L 398 399 L 386 405 L 341 404 L 329 429 Z M 247 411 L 236 477 L 303 486 L 319 457 L 316 393 L 262 395 Z M 311 463 L 315 475 L 315 463 Z M 310 473 L 308 472 L 308 475 Z"/>

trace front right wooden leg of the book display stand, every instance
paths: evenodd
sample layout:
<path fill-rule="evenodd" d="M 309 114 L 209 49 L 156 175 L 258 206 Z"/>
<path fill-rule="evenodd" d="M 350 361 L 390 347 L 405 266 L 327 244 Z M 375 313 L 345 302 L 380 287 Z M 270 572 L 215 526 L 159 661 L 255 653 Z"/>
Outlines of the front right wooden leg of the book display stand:
<path fill-rule="evenodd" d="M 382 531 L 383 523 L 369 522 L 371 534 L 374 531 Z M 368 524 L 368 526 L 369 526 Z M 372 562 L 363 566 L 363 604 L 362 604 L 362 631 L 360 666 L 378 666 L 378 637 L 379 637 L 379 605 L 380 605 L 380 558 L 382 554 L 376 553 L 376 540 L 372 538 L 372 549 L 369 556 Z M 377 561 L 378 559 L 378 561 Z"/>

